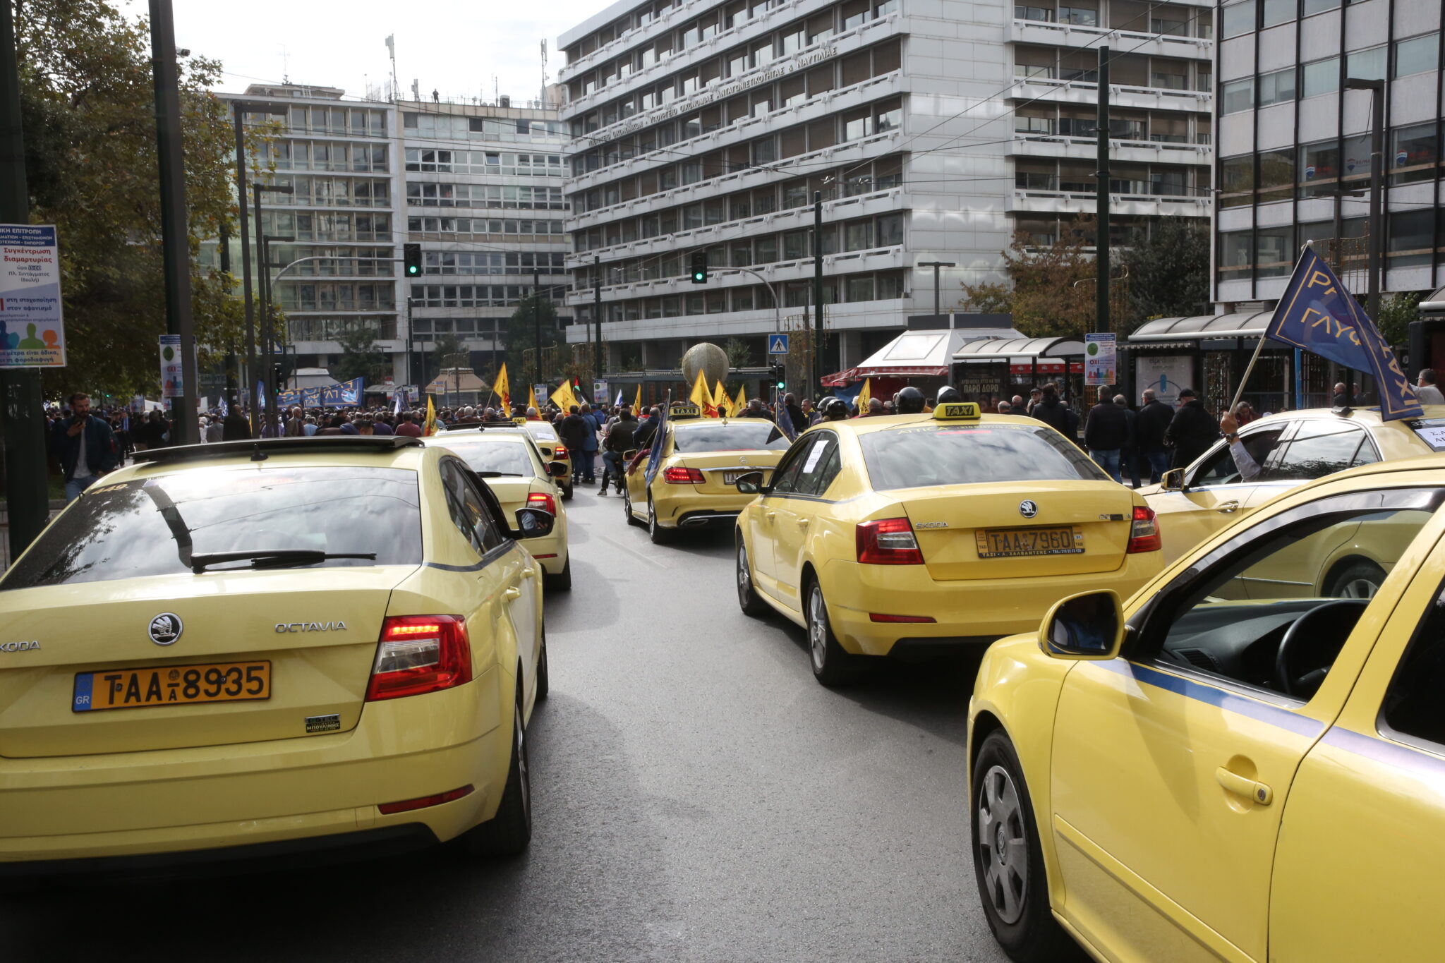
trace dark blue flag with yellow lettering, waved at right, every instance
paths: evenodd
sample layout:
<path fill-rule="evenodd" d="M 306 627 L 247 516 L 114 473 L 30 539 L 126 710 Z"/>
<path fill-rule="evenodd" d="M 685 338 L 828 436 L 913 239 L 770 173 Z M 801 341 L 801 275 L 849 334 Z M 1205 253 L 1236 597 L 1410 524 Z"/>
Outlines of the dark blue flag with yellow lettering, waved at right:
<path fill-rule="evenodd" d="M 1311 247 L 1299 256 L 1264 336 L 1374 375 L 1386 422 L 1423 414 L 1380 329 Z"/>

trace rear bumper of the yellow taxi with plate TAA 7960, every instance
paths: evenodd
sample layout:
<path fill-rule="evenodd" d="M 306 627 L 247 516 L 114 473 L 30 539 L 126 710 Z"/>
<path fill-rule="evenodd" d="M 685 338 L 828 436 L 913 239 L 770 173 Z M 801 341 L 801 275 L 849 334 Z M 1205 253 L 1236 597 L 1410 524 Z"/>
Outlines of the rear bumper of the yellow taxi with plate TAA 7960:
<path fill-rule="evenodd" d="M 922 566 L 829 562 L 821 573 L 828 619 L 844 650 L 899 655 L 983 645 L 1004 635 L 1038 632 L 1059 599 L 1091 589 L 1129 598 L 1159 573 L 1159 552 L 1127 556 L 1114 572 L 1040 579 L 935 582 Z M 871 614 L 932 616 L 933 622 L 874 622 Z"/>

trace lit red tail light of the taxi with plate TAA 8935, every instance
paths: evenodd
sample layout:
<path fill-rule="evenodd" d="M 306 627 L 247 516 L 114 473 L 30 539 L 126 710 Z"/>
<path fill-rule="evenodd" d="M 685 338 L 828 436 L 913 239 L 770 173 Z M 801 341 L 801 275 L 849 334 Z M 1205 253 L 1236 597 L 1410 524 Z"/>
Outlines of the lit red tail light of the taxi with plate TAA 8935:
<path fill-rule="evenodd" d="M 381 625 L 366 700 L 400 699 L 471 681 L 471 642 L 460 615 L 393 615 Z"/>

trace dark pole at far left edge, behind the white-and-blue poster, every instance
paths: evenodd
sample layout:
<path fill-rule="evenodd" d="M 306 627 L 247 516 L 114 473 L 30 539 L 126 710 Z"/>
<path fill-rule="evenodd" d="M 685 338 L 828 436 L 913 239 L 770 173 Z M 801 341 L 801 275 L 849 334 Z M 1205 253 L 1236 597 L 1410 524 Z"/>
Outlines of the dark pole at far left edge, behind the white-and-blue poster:
<path fill-rule="evenodd" d="M 25 180 L 25 131 L 10 4 L 0 3 L 0 224 L 30 222 Z M 10 557 L 16 559 L 51 518 L 45 456 L 45 400 L 39 368 L 0 371 L 4 404 L 4 491 L 10 515 Z"/>

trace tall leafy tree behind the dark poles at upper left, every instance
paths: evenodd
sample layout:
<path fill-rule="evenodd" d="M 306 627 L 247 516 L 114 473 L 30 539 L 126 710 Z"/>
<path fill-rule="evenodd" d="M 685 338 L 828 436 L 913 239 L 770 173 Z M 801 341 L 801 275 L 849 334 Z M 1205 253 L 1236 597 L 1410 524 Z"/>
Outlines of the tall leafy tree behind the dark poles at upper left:
<path fill-rule="evenodd" d="M 166 312 L 149 27 L 108 0 L 13 1 L 30 219 L 58 228 L 68 322 L 69 367 L 46 370 L 45 388 L 155 391 Z M 234 225 L 234 140 L 225 105 L 208 92 L 220 64 L 188 56 L 178 66 L 192 310 L 205 357 L 243 334 L 234 280 L 197 261 L 202 238 Z"/>

